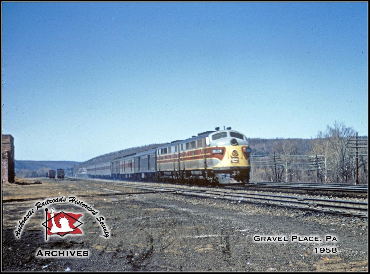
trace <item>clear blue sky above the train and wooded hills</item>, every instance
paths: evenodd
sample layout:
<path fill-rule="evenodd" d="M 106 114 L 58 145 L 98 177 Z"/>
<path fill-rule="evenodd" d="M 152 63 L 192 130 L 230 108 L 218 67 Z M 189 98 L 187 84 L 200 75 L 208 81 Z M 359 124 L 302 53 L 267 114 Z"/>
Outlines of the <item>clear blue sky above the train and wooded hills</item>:
<path fill-rule="evenodd" d="M 216 126 L 368 131 L 367 3 L 2 3 L 17 160 L 85 161 Z"/>

